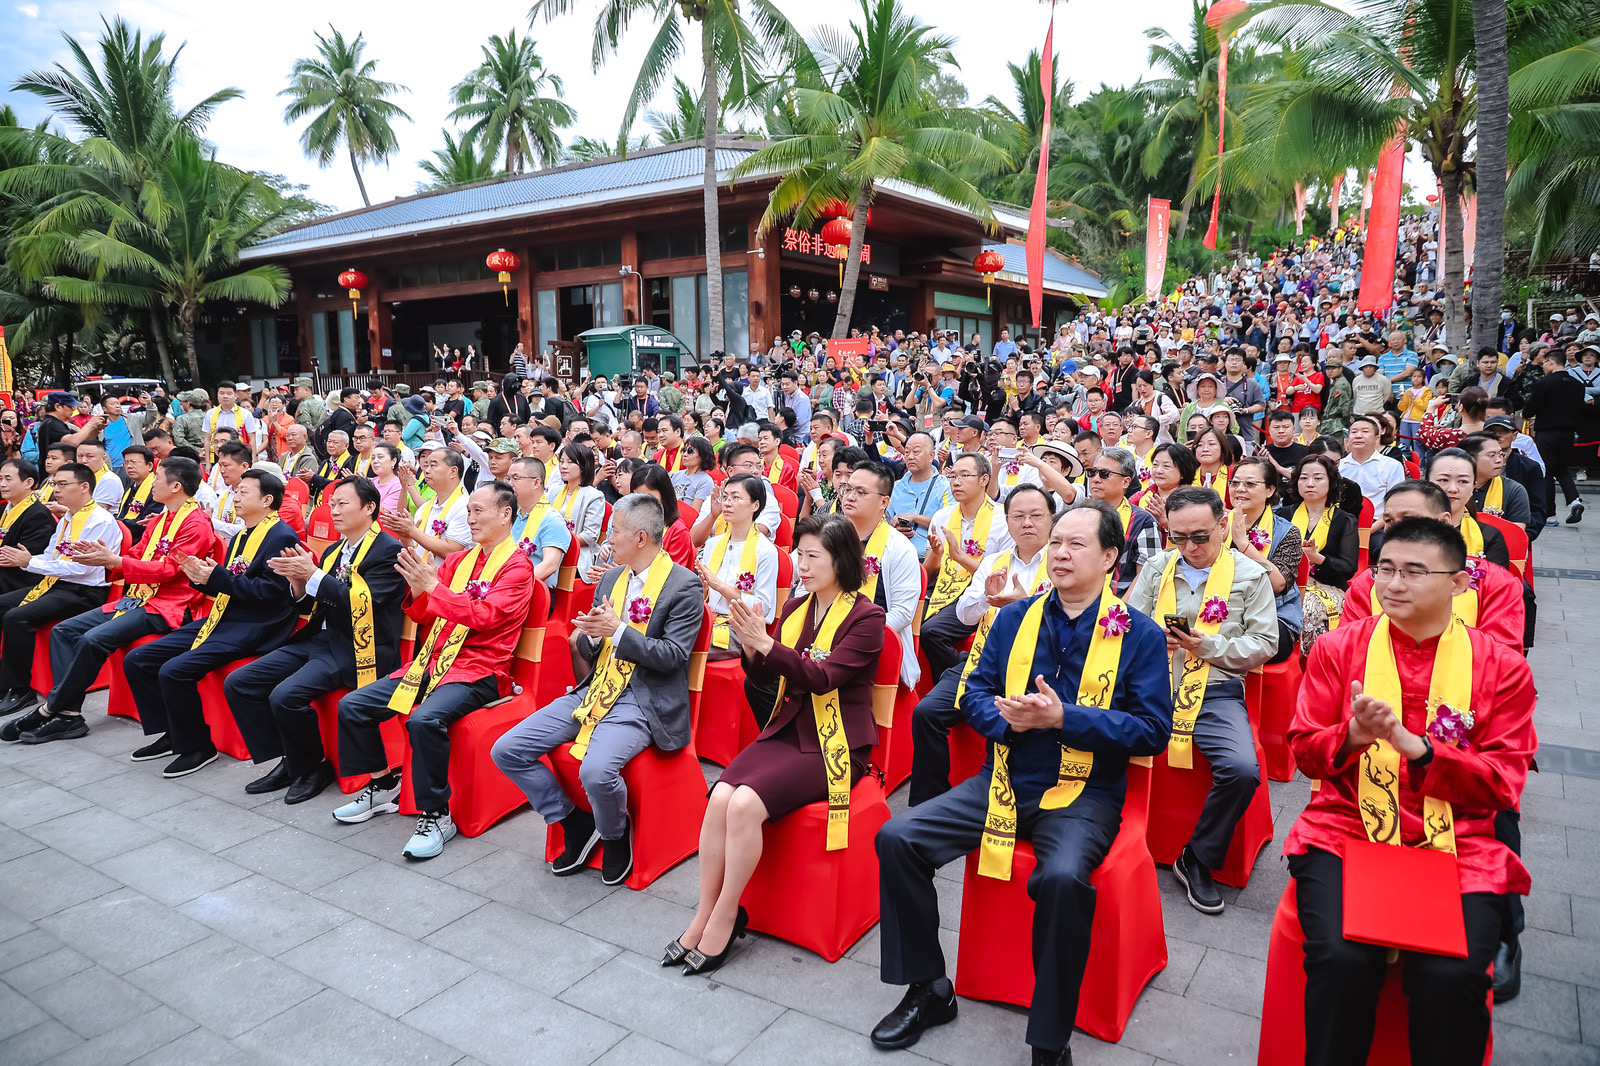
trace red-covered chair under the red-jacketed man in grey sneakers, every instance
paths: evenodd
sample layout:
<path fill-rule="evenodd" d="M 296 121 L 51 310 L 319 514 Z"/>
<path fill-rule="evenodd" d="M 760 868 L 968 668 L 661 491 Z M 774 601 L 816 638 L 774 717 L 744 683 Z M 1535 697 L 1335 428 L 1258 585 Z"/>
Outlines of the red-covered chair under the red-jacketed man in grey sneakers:
<path fill-rule="evenodd" d="M 542 581 L 534 581 L 533 595 L 528 599 L 528 616 L 523 619 L 522 640 L 517 643 L 512 661 L 512 679 L 515 680 L 520 672 L 523 677 L 531 675 L 534 685 L 525 687 L 517 695 L 496 699 L 450 727 L 450 818 L 462 836 L 483 834 L 496 821 L 528 802 L 522 789 L 494 765 L 490 752 L 494 741 L 510 727 L 544 706 L 533 701 L 533 693 L 538 688 L 544 626 L 549 616 L 550 591 Z M 403 759 L 400 765 L 408 767 L 411 763 L 411 741 L 405 727 L 400 727 L 400 733 Z M 400 813 L 421 813 L 411 792 L 410 773 L 403 775 L 400 783 Z"/>

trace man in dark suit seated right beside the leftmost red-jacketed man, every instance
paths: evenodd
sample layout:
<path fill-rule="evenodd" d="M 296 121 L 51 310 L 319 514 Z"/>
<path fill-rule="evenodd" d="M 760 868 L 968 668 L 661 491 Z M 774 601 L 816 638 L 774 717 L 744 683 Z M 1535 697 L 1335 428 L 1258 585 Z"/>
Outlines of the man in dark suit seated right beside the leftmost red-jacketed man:
<path fill-rule="evenodd" d="M 216 760 L 211 730 L 200 709 L 200 679 L 234 659 L 283 642 L 294 627 L 290 583 L 267 567 L 299 544 L 288 522 L 277 517 L 283 482 L 266 471 L 245 471 L 234 487 L 234 514 L 245 528 L 234 535 L 224 562 L 178 554 L 184 576 L 216 597 L 211 613 L 179 626 L 123 658 L 128 690 L 139 707 L 139 723 L 150 744 L 136 760 L 176 755 L 163 778 L 181 778 Z"/>

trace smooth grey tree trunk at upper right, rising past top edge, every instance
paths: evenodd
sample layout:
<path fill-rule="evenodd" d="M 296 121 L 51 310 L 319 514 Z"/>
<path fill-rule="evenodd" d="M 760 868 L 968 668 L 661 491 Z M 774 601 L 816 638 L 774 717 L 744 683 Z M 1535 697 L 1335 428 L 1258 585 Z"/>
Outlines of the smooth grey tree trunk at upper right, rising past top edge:
<path fill-rule="evenodd" d="M 1506 272 L 1506 126 L 1510 122 L 1510 64 L 1506 0 L 1472 0 L 1478 58 L 1477 246 L 1472 258 L 1472 351 L 1494 347 L 1501 279 Z"/>

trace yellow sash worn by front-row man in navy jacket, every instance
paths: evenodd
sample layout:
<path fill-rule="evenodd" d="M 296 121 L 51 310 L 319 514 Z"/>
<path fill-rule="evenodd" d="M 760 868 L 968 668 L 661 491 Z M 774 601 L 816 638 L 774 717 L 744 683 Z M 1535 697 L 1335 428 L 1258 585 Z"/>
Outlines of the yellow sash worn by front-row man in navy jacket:
<path fill-rule="evenodd" d="M 1022 616 L 1016 640 L 1011 642 L 1005 666 L 1005 691 L 1013 699 L 1026 693 L 1032 680 L 1038 631 L 1051 595 L 1054 594 L 1035 597 Z M 1120 611 L 1123 626 L 1110 621 L 1114 610 Z M 1090 637 L 1090 650 L 1083 658 L 1083 672 L 1078 675 L 1077 703 L 1080 706 L 1101 709 L 1110 706 L 1110 696 L 1117 690 L 1117 669 L 1122 663 L 1122 635 L 1126 632 L 1128 623 L 1126 605 L 1109 592 L 1102 592 L 1094 618 L 1094 632 Z M 1115 632 L 1112 632 L 1114 629 Z M 1016 850 L 1016 792 L 1011 787 L 1008 762 L 1010 747 L 997 743 L 994 746 L 994 775 L 989 778 L 989 810 L 984 816 L 984 836 L 978 852 L 978 874 L 997 880 L 1011 880 L 1011 856 Z M 1093 770 L 1094 752 L 1062 744 L 1056 784 L 1040 797 L 1040 810 L 1070 807 L 1083 794 Z"/>

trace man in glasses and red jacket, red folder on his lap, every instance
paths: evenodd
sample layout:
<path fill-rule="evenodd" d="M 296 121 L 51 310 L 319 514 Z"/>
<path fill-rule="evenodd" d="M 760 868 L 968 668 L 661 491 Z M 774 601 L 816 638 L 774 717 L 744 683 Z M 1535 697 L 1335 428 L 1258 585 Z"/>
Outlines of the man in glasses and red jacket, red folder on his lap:
<path fill-rule="evenodd" d="M 1306 930 L 1309 1066 L 1363 1063 L 1373 1042 L 1389 949 L 1344 936 L 1344 856 L 1366 840 L 1454 853 L 1459 900 L 1421 903 L 1461 908 L 1467 957 L 1403 952 L 1410 1050 L 1483 1061 L 1506 896 L 1531 887 L 1494 816 L 1520 802 L 1538 739 L 1526 659 L 1453 611 L 1466 567 L 1448 523 L 1395 522 L 1374 567 L 1384 613 L 1312 645 L 1288 743 L 1322 787 L 1283 847 Z"/>

